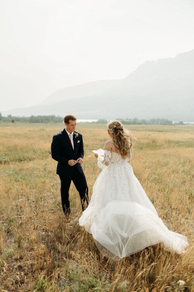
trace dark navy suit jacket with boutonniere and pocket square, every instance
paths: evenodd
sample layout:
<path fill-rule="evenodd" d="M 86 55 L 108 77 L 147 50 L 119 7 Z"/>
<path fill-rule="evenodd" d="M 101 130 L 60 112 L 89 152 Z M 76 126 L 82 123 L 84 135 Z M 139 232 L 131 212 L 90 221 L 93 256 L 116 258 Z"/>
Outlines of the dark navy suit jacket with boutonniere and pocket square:
<path fill-rule="evenodd" d="M 76 133 L 78 134 L 77 137 L 75 137 Z M 76 163 L 73 166 L 68 164 L 68 161 L 71 159 L 77 160 L 79 157 L 83 159 L 84 151 L 82 135 L 74 131 L 73 142 L 74 150 L 69 135 L 65 129 L 53 136 L 53 141 L 51 143 L 51 156 L 53 159 L 58 161 L 56 171 L 58 175 L 71 175 L 74 167 L 76 167 L 80 173 L 83 173 L 81 164 Z"/>

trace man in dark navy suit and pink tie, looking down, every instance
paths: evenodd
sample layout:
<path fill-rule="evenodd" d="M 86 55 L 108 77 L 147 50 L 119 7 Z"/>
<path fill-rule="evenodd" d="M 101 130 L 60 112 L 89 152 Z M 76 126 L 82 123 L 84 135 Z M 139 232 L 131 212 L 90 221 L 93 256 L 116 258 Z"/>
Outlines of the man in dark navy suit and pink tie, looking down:
<path fill-rule="evenodd" d="M 53 136 L 51 144 L 52 158 L 58 161 L 56 173 L 61 181 L 61 202 L 65 215 L 69 215 L 69 188 L 73 181 L 81 199 L 82 211 L 88 206 L 88 186 L 81 164 L 83 163 L 82 135 L 75 132 L 76 117 L 67 114 L 64 118 L 66 128 Z"/>

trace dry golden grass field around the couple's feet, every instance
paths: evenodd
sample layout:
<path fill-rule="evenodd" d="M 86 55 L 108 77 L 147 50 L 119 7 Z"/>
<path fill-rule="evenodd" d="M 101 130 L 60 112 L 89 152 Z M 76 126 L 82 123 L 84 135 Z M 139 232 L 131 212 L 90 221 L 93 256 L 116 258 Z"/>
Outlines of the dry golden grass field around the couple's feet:
<path fill-rule="evenodd" d="M 193 126 L 129 125 L 131 165 L 168 229 L 187 237 L 185 254 L 160 245 L 113 261 L 78 224 L 79 194 L 70 187 L 64 220 L 52 136 L 63 124 L 0 124 L 0 291 L 194 291 Z M 91 150 L 109 139 L 106 125 L 78 124 L 89 197 L 100 173 Z M 177 281 L 185 281 L 179 286 Z"/>

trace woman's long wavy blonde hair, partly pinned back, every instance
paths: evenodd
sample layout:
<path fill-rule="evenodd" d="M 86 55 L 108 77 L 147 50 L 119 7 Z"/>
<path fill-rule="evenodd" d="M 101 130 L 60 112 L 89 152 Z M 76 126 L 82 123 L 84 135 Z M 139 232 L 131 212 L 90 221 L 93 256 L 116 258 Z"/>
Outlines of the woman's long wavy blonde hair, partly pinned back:
<path fill-rule="evenodd" d="M 116 151 L 120 152 L 122 158 L 127 158 L 131 156 L 132 150 L 132 139 L 136 139 L 129 131 L 124 129 L 120 121 L 114 120 L 107 124 L 107 130 L 113 135 L 113 144 L 116 147 Z"/>

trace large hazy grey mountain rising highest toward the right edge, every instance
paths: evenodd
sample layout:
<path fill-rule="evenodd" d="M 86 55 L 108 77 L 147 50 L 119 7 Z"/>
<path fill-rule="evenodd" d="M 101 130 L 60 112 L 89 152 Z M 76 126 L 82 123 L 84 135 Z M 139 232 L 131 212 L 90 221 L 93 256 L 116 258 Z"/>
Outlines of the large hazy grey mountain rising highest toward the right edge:
<path fill-rule="evenodd" d="M 56 92 L 52 95 L 55 101 L 52 105 L 15 109 L 7 111 L 6 114 L 64 116 L 71 112 L 79 119 L 159 117 L 175 121 L 193 121 L 193 80 L 194 50 L 179 54 L 175 58 L 159 59 L 156 62 L 147 61 L 121 82 L 118 81 L 118 85 L 102 92 L 88 95 L 88 90 L 88 94 L 83 96 L 84 89 L 79 96 L 76 96 L 78 86 L 74 86 L 71 92 L 76 93 L 75 95 L 72 93 L 71 99 L 56 102 L 59 96 Z M 67 93 L 69 89 L 63 90 Z M 66 97 L 67 95 L 64 96 Z M 5 115 L 5 112 L 2 114 Z"/>

